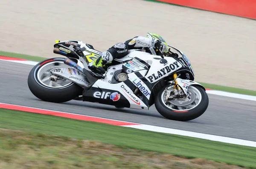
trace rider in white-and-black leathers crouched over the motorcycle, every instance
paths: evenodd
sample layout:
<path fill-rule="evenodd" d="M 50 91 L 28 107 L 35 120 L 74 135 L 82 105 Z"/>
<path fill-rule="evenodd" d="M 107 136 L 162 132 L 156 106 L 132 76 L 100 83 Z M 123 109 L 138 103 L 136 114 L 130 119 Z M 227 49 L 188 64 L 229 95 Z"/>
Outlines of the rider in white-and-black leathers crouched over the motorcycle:
<path fill-rule="evenodd" d="M 123 43 L 116 43 L 116 45 L 109 48 L 107 51 L 88 64 L 88 68 L 94 73 L 105 73 L 103 66 L 110 63 L 115 58 L 121 58 L 128 54 L 128 50 L 141 49 L 153 55 L 163 55 L 168 53 L 169 47 L 165 40 L 157 34 L 147 33 L 146 37 L 134 37 Z"/>

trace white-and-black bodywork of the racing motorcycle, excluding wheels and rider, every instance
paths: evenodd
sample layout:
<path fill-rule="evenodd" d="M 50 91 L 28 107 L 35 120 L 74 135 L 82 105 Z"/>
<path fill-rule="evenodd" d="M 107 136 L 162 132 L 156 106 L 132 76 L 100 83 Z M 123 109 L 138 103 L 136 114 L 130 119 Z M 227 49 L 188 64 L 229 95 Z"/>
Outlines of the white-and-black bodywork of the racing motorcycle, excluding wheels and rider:
<path fill-rule="evenodd" d="M 83 48 L 84 56 L 74 52 L 76 46 Z M 172 46 L 169 47 L 172 52 L 177 53 L 177 58 L 151 55 L 141 50 L 130 50 L 128 55 L 114 59 L 111 64 L 107 64 L 104 75 L 95 76 L 96 74 L 91 72 L 87 65 L 99 57 L 100 51 L 82 41 L 57 42 L 54 53 L 67 56 L 69 59 L 64 61 L 64 58 L 52 58 L 51 62 L 58 60 L 58 62 L 64 62 L 67 67 L 52 69 L 50 79 L 57 82 L 62 78 L 79 85 L 83 89 L 80 95 L 83 101 L 140 110 L 148 110 L 154 104 L 155 97 L 158 97 L 159 90 L 163 87 L 167 89 L 167 86 L 173 87 L 174 80 L 185 96 L 189 95 L 190 86 L 198 86 L 205 91 L 202 85 L 193 81 L 194 71 L 189 59 L 181 51 Z M 35 70 L 42 69 L 41 65 L 42 62 Z M 33 71 L 36 72 L 35 70 Z M 180 76 L 173 79 L 174 73 Z M 172 111 L 176 112 L 174 109 Z"/>

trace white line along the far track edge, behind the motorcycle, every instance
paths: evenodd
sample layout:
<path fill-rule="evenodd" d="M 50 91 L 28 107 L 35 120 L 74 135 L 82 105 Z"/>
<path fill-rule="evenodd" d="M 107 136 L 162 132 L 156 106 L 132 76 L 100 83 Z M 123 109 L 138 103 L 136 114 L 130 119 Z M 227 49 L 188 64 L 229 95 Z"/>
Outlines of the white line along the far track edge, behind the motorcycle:
<path fill-rule="evenodd" d="M 26 64 L 26 65 L 36 65 L 36 64 L 38 64 L 38 62 L 29 61 L 29 60 L 26 60 L 26 61 L 21 61 L 21 60 L 4 60 L 4 59 L 0 59 L 0 60 L 7 61 L 7 62 L 21 63 L 21 64 Z M 224 92 L 224 91 L 218 91 L 218 90 L 207 90 L 206 93 L 214 94 L 214 95 L 218 95 L 218 96 L 232 97 L 232 98 L 236 98 L 236 99 L 244 99 L 244 100 L 256 101 L 256 96 L 249 96 L 249 95 L 230 93 L 230 92 Z"/>

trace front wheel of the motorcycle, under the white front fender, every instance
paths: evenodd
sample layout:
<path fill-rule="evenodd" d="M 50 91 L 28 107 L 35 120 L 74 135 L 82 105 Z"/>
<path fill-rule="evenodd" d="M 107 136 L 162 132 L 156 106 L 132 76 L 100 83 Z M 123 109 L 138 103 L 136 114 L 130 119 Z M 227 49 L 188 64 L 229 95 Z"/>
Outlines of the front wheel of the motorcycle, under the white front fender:
<path fill-rule="evenodd" d="M 207 110 L 209 99 L 202 87 L 189 86 L 186 98 L 168 100 L 166 100 L 166 87 L 163 87 L 155 97 L 155 107 L 165 118 L 189 121 L 198 118 Z"/>

